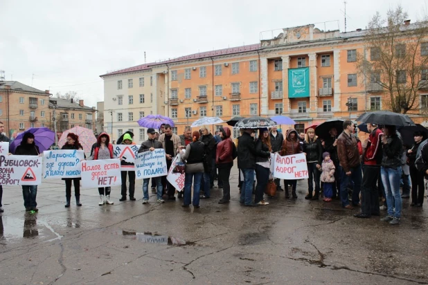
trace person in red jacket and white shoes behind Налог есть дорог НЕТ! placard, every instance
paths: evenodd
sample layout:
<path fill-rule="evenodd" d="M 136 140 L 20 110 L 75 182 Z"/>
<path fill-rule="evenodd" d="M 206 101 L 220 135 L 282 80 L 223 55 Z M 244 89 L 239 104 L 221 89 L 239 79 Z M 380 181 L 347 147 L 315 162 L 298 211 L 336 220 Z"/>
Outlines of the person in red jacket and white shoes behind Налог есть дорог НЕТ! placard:
<path fill-rule="evenodd" d="M 102 133 L 98 136 L 97 143 L 95 148 L 93 149 L 93 153 L 88 160 L 97 160 L 97 159 L 110 159 L 116 158 L 113 153 L 113 145 L 110 142 L 109 135 L 102 131 Z M 112 191 L 112 187 L 98 187 L 98 193 L 100 193 L 100 203 L 98 205 L 102 206 L 113 205 L 114 202 L 110 201 L 110 192 Z"/>

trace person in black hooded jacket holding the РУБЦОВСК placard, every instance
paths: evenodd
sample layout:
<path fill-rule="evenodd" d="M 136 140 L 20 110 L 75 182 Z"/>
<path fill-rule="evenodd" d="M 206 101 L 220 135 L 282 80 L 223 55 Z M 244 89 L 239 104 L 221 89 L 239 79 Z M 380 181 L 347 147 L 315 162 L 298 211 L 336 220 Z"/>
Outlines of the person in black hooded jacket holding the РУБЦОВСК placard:
<path fill-rule="evenodd" d="M 34 143 L 34 135 L 26 132 L 22 138 L 21 145 L 15 149 L 16 156 L 38 156 L 39 147 Z M 24 197 L 24 207 L 26 212 L 39 212 L 37 209 L 37 185 L 22 185 L 22 196 Z"/>

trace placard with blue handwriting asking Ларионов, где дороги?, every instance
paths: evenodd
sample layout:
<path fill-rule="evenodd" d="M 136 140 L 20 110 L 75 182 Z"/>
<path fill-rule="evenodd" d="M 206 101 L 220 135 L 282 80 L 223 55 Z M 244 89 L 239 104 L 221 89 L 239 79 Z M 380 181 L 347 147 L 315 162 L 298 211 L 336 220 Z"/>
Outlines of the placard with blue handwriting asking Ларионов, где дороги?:
<path fill-rule="evenodd" d="M 84 151 L 77 149 L 43 151 L 43 178 L 80 177 L 80 162 Z"/>

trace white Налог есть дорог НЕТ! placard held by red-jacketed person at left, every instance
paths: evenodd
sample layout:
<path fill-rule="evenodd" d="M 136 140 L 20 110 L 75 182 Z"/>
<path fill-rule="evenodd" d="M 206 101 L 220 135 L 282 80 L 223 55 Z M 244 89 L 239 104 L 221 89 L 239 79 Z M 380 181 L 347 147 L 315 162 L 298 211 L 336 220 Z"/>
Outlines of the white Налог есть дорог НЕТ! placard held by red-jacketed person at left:
<path fill-rule="evenodd" d="M 83 160 L 81 164 L 82 188 L 122 185 L 120 159 Z"/>

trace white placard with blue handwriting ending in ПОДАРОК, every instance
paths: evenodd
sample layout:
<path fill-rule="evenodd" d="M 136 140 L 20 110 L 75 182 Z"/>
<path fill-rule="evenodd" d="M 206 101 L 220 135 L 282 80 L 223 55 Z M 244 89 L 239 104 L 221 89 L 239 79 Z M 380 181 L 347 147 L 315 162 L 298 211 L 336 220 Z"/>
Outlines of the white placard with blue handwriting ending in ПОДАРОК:
<path fill-rule="evenodd" d="M 135 158 L 135 178 L 166 176 L 166 158 L 164 149 L 144 151 Z"/>

